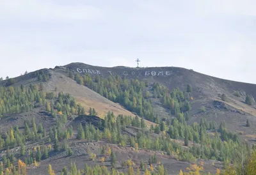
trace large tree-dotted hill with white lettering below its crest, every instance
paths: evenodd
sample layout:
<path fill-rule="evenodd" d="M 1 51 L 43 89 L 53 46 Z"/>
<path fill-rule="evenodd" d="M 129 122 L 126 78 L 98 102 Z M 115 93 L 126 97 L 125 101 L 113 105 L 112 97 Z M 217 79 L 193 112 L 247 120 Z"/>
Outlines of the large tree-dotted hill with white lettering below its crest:
<path fill-rule="evenodd" d="M 18 160 L 28 174 L 215 174 L 250 153 L 255 98 L 255 84 L 175 67 L 71 63 L 3 80 L 0 174 L 26 174 Z"/>

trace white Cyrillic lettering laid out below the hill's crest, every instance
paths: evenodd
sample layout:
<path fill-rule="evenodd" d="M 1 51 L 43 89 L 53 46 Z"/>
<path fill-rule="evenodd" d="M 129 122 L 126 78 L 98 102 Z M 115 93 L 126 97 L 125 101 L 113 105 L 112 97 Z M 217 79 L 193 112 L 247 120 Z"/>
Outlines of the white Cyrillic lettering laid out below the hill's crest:
<path fill-rule="evenodd" d="M 82 69 L 82 68 L 77 68 L 76 69 L 77 72 L 79 73 L 91 73 L 91 74 L 98 74 L 98 75 L 102 75 L 102 72 L 100 72 L 100 70 L 93 70 L 93 69 Z M 109 75 L 114 75 L 116 74 L 115 72 L 111 71 L 111 70 L 108 70 L 106 72 L 107 74 Z M 121 75 L 135 75 L 135 76 L 140 76 L 140 75 L 143 75 L 143 76 L 170 76 L 172 75 L 172 73 L 170 71 L 151 71 L 151 70 L 146 70 L 144 72 L 142 71 L 138 71 L 138 72 L 135 72 L 135 71 L 124 71 L 122 73 L 120 73 Z"/>

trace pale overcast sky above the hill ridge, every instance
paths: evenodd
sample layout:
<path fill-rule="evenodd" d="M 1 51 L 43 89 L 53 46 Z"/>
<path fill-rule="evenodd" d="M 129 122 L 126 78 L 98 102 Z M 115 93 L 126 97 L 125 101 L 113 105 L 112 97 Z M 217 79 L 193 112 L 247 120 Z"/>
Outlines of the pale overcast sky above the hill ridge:
<path fill-rule="evenodd" d="M 256 84 L 255 0 L 1 0 L 0 77 L 82 62 Z"/>

